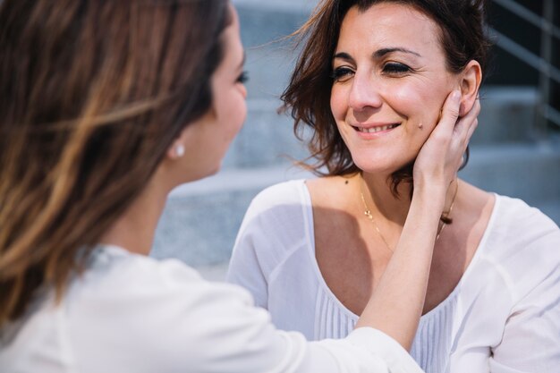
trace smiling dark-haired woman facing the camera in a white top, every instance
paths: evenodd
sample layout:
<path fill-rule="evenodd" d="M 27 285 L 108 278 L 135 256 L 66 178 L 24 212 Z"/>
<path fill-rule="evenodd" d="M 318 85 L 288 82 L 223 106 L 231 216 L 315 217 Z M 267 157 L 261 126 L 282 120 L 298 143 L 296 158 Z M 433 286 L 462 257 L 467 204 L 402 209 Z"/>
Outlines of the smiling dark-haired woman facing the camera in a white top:
<path fill-rule="evenodd" d="M 323 177 L 256 197 L 228 280 L 284 330 L 351 333 L 401 244 L 412 168 L 445 97 L 476 101 L 481 0 L 325 0 L 284 92 Z M 404 289 L 399 289 L 402 292 Z M 409 307 L 405 298 L 395 309 Z M 560 231 L 519 199 L 446 191 L 412 357 L 427 372 L 560 371 Z"/>

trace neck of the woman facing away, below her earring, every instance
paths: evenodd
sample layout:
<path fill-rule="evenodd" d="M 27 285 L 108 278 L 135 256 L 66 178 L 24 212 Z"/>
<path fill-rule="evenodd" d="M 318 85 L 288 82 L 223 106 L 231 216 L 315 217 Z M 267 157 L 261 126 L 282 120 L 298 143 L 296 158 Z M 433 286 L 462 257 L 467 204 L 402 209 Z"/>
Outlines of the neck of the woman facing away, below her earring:
<path fill-rule="evenodd" d="M 100 243 L 115 245 L 137 254 L 148 255 L 154 242 L 157 222 L 170 188 L 152 178 L 132 205 L 103 235 Z"/>

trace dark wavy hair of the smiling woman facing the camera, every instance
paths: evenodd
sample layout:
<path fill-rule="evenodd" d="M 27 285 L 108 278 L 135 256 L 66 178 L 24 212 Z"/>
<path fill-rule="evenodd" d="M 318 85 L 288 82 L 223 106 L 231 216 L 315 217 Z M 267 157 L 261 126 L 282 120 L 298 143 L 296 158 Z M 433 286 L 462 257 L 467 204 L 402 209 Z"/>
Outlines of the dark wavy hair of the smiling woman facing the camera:
<path fill-rule="evenodd" d="M 293 37 L 303 43 L 282 100 L 284 110 L 291 112 L 294 132 L 300 140 L 306 128 L 312 130 L 308 148 L 316 162 L 306 168 L 318 175 L 346 175 L 360 172 L 354 165 L 350 150 L 344 144 L 331 113 L 330 93 L 333 85 L 332 57 L 338 43 L 344 16 L 356 6 L 361 12 L 379 3 L 397 3 L 412 6 L 426 14 L 439 26 L 439 39 L 445 51 L 447 69 L 461 72 L 471 60 L 479 62 L 486 72 L 488 49 L 491 45 L 486 32 L 485 0 L 323 0 Z M 469 149 L 463 165 L 469 159 Z M 395 196 L 400 182 L 412 182 L 411 164 L 392 175 L 391 186 Z M 324 169 L 327 171 L 323 171 Z"/>

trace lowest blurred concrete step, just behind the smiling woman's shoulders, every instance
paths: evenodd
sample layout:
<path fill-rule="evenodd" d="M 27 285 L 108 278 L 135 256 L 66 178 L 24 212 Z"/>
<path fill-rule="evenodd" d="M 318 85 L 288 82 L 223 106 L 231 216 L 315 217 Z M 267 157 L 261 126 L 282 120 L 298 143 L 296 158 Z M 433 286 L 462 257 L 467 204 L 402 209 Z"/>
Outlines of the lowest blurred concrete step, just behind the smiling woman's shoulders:
<path fill-rule="evenodd" d="M 506 144 L 471 149 L 460 176 L 482 189 L 524 199 L 560 225 L 560 146 Z M 312 177 L 299 168 L 228 169 L 172 192 L 157 228 L 153 255 L 194 267 L 225 263 L 250 200 L 276 182 Z M 219 272 L 219 271 L 218 271 Z M 210 274 L 211 276 L 211 274 Z"/>

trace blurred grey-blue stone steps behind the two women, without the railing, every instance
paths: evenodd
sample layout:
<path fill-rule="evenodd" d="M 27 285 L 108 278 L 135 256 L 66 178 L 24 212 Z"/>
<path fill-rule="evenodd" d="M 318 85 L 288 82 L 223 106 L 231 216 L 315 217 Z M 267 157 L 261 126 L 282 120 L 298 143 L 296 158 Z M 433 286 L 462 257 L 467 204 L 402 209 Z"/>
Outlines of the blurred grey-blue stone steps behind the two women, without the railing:
<path fill-rule="evenodd" d="M 172 192 L 152 255 L 178 258 L 222 279 L 245 209 L 276 182 L 311 177 L 293 166 L 307 153 L 292 120 L 276 114 L 295 54 L 282 37 L 295 30 L 316 0 L 233 1 L 246 48 L 248 118 L 219 174 Z M 272 41 L 272 42 L 271 42 Z M 460 176 L 482 189 L 519 197 L 560 224 L 560 139 L 534 130 L 537 92 L 485 88 L 471 160 Z"/>

